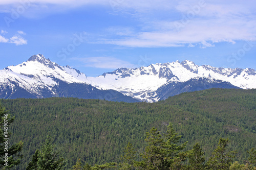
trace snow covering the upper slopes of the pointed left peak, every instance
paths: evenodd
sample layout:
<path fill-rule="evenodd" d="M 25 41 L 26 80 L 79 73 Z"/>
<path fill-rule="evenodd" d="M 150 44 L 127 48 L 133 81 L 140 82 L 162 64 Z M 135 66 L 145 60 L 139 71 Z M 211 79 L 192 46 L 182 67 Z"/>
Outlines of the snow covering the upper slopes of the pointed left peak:
<path fill-rule="evenodd" d="M 42 96 L 41 89 L 52 90 L 59 79 L 67 83 L 83 83 L 86 75 L 69 66 L 59 66 L 58 64 L 46 59 L 38 54 L 30 57 L 26 62 L 16 66 L 8 66 L 0 71 L 1 89 L 15 86 L 23 88 L 30 93 Z"/>

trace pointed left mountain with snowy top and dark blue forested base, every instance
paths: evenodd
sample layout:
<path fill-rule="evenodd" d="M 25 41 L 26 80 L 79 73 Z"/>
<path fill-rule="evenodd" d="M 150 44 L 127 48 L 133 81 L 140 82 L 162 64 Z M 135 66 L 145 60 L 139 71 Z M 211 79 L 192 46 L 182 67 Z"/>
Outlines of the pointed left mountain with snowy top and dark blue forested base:
<path fill-rule="evenodd" d="M 115 90 L 99 90 L 85 83 L 86 75 L 70 66 L 59 66 L 38 54 L 16 66 L 0 70 L 0 98 L 53 96 L 138 102 Z"/>

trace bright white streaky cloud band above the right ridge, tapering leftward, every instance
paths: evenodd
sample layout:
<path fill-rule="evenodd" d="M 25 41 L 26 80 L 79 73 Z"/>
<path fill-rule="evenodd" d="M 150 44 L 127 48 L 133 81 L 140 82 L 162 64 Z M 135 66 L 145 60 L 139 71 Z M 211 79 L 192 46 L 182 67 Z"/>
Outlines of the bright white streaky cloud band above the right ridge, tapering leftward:
<path fill-rule="evenodd" d="M 169 22 L 171 26 L 174 22 Z M 252 27 L 253 26 L 253 27 Z M 180 31 L 174 28 L 152 32 L 140 32 L 122 39 L 102 40 L 99 43 L 132 47 L 169 47 L 199 44 L 201 47 L 214 46 L 218 42 L 235 43 L 238 40 L 256 40 L 256 21 L 195 19 Z"/>

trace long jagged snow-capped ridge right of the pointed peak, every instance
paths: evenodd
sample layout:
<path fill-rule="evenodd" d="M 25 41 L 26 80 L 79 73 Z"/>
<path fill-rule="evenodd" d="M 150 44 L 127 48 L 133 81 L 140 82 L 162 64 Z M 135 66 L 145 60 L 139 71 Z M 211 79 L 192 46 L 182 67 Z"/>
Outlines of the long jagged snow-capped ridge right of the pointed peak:
<path fill-rule="evenodd" d="M 221 84 L 223 83 L 225 85 L 223 84 L 222 88 L 256 88 L 256 71 L 254 69 L 217 68 L 209 65 L 198 66 L 188 60 L 151 64 L 147 67 L 132 69 L 118 68 L 113 72 L 106 72 L 96 78 L 88 77 L 87 79 L 89 81 L 87 80 L 87 82 L 97 88 L 120 91 L 125 95 L 132 96 L 141 101 L 156 102 L 163 99 L 160 91 L 164 87 L 170 87 L 172 85 L 174 89 L 165 88 L 165 93 L 172 95 L 179 94 L 186 90 L 177 91 L 175 89 L 176 87 L 191 79 L 200 80 L 199 78 L 204 78 L 201 82 L 204 81 L 211 85 L 198 89 L 222 87 Z M 195 87 L 193 89 L 195 91 Z M 166 92 L 168 90 L 176 92 Z M 187 91 L 191 90 L 187 89 Z"/>

